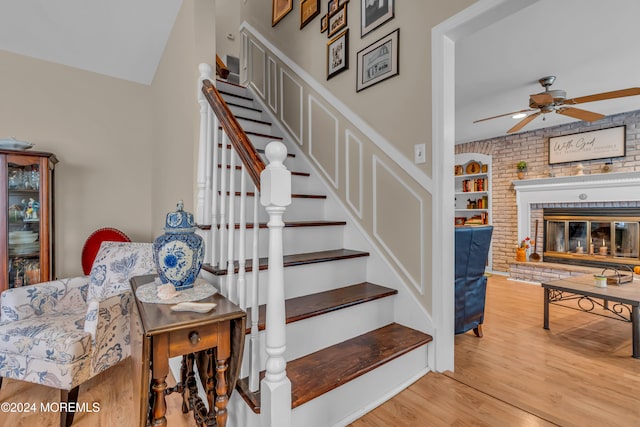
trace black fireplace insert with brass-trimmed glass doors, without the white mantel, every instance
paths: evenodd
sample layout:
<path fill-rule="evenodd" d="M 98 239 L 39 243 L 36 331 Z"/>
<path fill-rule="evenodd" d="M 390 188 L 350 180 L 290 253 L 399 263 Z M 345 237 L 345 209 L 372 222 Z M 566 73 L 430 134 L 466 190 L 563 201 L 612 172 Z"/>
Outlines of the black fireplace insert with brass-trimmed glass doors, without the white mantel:
<path fill-rule="evenodd" d="M 640 263 L 640 209 L 544 208 L 544 260 L 587 266 Z"/>

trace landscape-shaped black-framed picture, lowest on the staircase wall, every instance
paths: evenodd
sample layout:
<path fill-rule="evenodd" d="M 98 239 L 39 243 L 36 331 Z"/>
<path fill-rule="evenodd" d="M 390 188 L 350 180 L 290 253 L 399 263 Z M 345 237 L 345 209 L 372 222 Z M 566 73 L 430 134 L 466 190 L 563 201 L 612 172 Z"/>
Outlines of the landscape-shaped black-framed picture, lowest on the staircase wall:
<path fill-rule="evenodd" d="M 400 29 L 358 52 L 356 92 L 399 74 Z"/>

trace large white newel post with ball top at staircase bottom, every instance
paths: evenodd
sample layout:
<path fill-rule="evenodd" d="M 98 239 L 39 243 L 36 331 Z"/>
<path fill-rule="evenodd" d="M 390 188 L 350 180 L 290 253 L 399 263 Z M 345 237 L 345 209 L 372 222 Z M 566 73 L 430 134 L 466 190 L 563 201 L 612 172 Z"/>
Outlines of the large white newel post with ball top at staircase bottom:
<path fill-rule="evenodd" d="M 269 164 L 260 175 L 260 203 L 269 214 L 269 279 L 266 314 L 266 374 L 262 380 L 263 427 L 291 426 L 291 381 L 287 378 L 284 311 L 282 215 L 291 204 L 291 172 L 284 166 L 287 148 L 274 141 L 265 150 Z M 255 274 L 255 273 L 254 273 Z"/>

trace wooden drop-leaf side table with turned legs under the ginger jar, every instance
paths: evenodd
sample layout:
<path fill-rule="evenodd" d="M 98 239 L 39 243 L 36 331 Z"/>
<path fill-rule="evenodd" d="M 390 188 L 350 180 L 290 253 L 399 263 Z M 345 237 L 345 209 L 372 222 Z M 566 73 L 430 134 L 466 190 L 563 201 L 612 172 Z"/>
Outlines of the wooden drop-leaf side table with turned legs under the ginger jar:
<path fill-rule="evenodd" d="M 132 278 L 134 295 L 138 287 L 155 277 Z M 174 312 L 169 304 L 144 303 L 136 298 L 131 313 L 131 356 L 141 427 L 167 425 L 165 395 L 173 392 L 182 395 L 183 413 L 193 410 L 198 425 L 226 425 L 227 403 L 242 362 L 246 313 L 219 294 L 201 302 L 217 306 L 204 314 Z M 169 358 L 176 356 L 183 356 L 180 378 L 168 389 Z M 209 410 L 197 394 L 194 362 Z"/>

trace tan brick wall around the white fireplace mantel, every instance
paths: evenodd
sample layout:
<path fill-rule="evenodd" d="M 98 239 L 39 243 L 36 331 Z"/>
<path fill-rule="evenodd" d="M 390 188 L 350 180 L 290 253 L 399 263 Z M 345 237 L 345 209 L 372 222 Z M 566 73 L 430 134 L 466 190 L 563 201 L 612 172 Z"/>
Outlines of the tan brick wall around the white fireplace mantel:
<path fill-rule="evenodd" d="M 624 158 L 612 159 L 613 172 L 640 171 L 640 110 L 605 117 L 593 125 L 573 122 L 456 145 L 456 154 L 482 153 L 492 156 L 493 271 L 509 271 L 509 263 L 515 257 L 518 244 L 516 193 L 512 184 L 517 179 L 516 163 L 521 160 L 527 162 L 527 179 L 575 175 L 578 162 L 549 165 L 549 137 L 620 125 L 627 126 L 627 154 Z M 602 173 L 602 166 L 608 161 L 609 159 L 603 159 L 579 163 L 582 163 L 583 172 L 587 175 Z M 640 195 L 638 198 L 640 199 Z M 541 240 L 542 231 L 539 231 L 539 235 Z M 541 243 L 540 241 L 539 244 Z M 541 251 L 542 248 L 538 252 Z"/>

